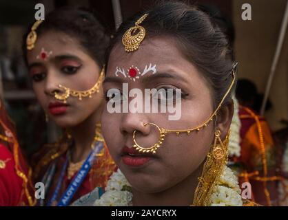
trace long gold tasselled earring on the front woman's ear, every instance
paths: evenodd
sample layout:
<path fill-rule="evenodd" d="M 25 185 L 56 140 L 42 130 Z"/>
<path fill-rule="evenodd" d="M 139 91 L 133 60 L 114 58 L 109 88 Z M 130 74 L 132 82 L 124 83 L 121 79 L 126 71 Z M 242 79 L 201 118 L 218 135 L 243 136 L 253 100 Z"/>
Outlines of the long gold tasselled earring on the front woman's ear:
<path fill-rule="evenodd" d="M 198 186 L 194 192 L 193 206 L 208 206 L 212 190 L 228 161 L 229 132 L 223 142 L 220 131 L 214 133 L 214 144 L 207 154 Z"/>

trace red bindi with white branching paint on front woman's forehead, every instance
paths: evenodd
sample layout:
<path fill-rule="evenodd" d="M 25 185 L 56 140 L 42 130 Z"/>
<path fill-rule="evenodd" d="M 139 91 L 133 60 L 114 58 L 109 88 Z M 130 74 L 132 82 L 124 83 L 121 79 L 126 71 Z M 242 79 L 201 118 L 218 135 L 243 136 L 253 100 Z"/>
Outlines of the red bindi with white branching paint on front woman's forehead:
<path fill-rule="evenodd" d="M 140 69 L 136 66 L 134 67 L 134 65 L 129 67 L 129 69 L 127 69 L 127 72 L 125 72 L 124 68 L 121 69 L 120 67 L 116 67 L 115 76 L 119 76 L 119 74 L 122 74 L 125 78 L 128 77 L 130 78 L 130 80 L 134 80 L 135 82 L 135 80 L 138 79 L 140 76 L 144 76 L 149 72 L 152 72 L 152 74 L 156 74 L 156 64 L 153 66 L 151 63 L 149 66 L 145 65 L 142 73 L 140 72 Z"/>

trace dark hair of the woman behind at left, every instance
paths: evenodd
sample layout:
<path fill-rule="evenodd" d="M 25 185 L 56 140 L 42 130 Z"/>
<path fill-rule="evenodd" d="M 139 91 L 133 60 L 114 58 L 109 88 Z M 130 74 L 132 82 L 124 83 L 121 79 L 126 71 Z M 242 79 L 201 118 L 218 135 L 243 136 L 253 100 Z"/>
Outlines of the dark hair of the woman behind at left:
<path fill-rule="evenodd" d="M 26 37 L 23 39 L 23 53 L 27 64 Z M 109 45 L 110 37 L 97 15 L 85 8 L 63 7 L 53 10 L 45 17 L 37 28 L 37 37 L 48 31 L 63 32 L 79 41 L 94 61 L 101 67 L 105 62 L 105 50 Z"/>

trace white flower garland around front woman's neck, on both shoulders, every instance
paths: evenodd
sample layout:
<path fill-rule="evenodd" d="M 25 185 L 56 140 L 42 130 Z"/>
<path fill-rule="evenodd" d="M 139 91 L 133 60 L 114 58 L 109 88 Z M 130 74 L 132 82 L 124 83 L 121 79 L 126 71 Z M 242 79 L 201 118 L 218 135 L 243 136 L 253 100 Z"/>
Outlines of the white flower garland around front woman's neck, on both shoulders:
<path fill-rule="evenodd" d="M 242 206 L 238 178 L 225 166 L 222 175 L 214 186 L 210 206 Z M 112 174 L 107 182 L 105 193 L 94 202 L 94 206 L 132 206 L 131 185 L 120 169 Z"/>

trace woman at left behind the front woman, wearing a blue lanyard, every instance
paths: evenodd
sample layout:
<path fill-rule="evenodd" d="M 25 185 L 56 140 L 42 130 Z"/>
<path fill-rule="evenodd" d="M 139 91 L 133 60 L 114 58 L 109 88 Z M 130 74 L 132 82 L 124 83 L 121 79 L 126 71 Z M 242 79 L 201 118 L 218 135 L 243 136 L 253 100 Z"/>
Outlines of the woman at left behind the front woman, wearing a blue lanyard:
<path fill-rule="evenodd" d="M 34 157 L 34 179 L 45 184 L 40 205 L 68 206 L 95 187 L 101 194 L 115 166 L 99 124 L 109 37 L 94 14 L 75 8 L 50 12 L 25 37 L 37 100 L 49 120 L 66 131 Z"/>

